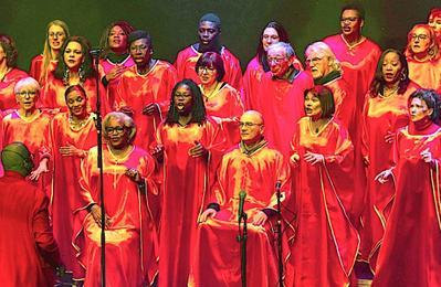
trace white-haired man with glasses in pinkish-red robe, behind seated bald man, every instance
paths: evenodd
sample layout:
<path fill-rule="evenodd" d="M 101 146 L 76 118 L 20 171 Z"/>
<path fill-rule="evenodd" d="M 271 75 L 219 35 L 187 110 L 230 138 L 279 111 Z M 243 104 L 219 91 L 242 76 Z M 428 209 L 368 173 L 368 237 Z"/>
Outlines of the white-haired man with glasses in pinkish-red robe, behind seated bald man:
<path fill-rule="evenodd" d="M 297 120 L 305 115 L 303 93 L 312 88 L 313 78 L 293 66 L 293 47 L 284 42 L 267 49 L 270 72 L 262 78 L 258 93 L 258 106 L 266 121 L 265 138 L 285 157 L 290 155 L 290 141 Z"/>

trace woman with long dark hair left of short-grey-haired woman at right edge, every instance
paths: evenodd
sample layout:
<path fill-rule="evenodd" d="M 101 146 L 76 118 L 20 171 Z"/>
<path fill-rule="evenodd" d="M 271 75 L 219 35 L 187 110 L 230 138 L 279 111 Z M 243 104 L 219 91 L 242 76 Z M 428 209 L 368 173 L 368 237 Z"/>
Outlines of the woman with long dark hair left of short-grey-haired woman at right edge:
<path fill-rule="evenodd" d="M 395 182 L 380 184 L 375 177 L 390 164 L 385 155 L 392 149 L 396 131 L 409 123 L 408 98 L 417 88 L 405 55 L 393 49 L 382 52 L 365 102 L 361 138 L 367 185 L 360 253 L 372 273 L 395 196 Z"/>

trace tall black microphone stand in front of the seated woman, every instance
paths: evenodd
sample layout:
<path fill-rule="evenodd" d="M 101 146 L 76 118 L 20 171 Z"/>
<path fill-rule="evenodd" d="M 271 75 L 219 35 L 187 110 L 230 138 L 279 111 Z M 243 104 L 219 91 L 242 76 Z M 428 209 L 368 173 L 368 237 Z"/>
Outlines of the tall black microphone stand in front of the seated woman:
<path fill-rule="evenodd" d="M 96 77 L 96 134 L 97 134 L 97 167 L 99 170 L 99 200 L 101 200 L 101 286 L 106 286 L 106 209 L 104 205 L 104 177 L 103 177 L 103 127 L 102 127 L 102 115 L 101 115 L 101 96 L 99 96 L 99 53 L 101 50 L 91 50 L 90 51 L 94 64 L 95 64 L 95 73 Z"/>

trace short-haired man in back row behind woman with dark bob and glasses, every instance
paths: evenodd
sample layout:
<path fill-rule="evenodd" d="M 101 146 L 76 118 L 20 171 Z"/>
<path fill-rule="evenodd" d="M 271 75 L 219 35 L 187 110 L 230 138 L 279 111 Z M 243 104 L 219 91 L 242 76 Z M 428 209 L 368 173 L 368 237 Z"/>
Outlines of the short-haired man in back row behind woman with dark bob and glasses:
<path fill-rule="evenodd" d="M 227 82 L 235 89 L 242 87 L 242 71 L 239 60 L 220 43 L 221 21 L 213 13 L 204 14 L 199 20 L 199 42 L 195 43 L 178 53 L 175 67 L 178 71 L 178 79 L 191 78 L 200 84 L 195 66 L 198 59 L 204 52 L 216 52 L 222 56 L 225 66 L 225 75 L 223 82 Z"/>

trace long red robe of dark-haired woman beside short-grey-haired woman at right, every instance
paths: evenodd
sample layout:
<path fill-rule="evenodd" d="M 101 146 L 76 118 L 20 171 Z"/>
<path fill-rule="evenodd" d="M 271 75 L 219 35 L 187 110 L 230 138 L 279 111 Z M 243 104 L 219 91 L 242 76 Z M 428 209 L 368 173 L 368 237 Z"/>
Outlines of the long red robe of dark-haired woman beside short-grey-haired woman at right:
<path fill-rule="evenodd" d="M 395 196 L 395 182 L 389 180 L 381 184 L 375 177 L 390 166 L 388 155 L 392 144 L 386 142 L 385 136 L 408 125 L 408 98 L 417 88 L 418 85 L 411 82 L 402 95 L 396 93 L 386 98 L 366 96 L 361 151 L 363 157 L 369 159 L 369 166 L 366 168 L 360 254 L 361 261 L 368 262 L 372 272 Z"/>

